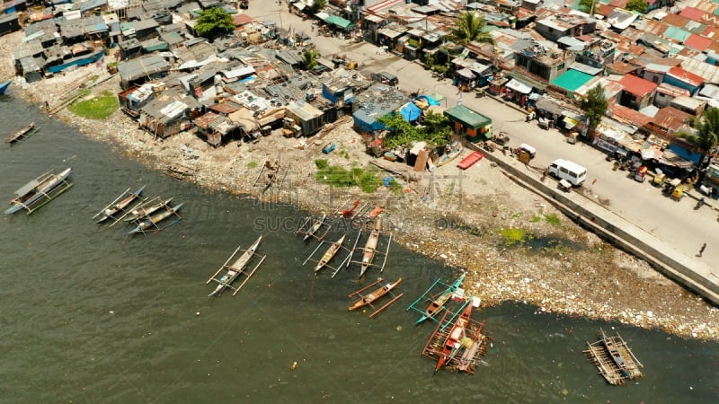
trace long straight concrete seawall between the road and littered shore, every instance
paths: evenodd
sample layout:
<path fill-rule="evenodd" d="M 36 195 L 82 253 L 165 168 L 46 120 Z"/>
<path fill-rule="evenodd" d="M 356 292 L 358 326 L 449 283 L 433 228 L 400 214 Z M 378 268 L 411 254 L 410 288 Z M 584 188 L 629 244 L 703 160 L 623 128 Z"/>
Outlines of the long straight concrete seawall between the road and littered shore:
<path fill-rule="evenodd" d="M 597 233 L 618 248 L 644 259 L 662 275 L 708 302 L 719 305 L 719 283 L 716 282 L 719 279 L 712 279 L 715 277 L 712 268 L 688 257 L 670 243 L 658 239 L 581 193 L 567 193 L 557 189 L 556 181 L 551 177 L 542 181 L 541 174 L 530 171 L 526 165 L 500 150 L 488 152 L 472 143 L 466 143 L 466 147 L 484 154 L 484 158 L 495 162 L 511 180 L 546 198 L 577 224 Z"/>

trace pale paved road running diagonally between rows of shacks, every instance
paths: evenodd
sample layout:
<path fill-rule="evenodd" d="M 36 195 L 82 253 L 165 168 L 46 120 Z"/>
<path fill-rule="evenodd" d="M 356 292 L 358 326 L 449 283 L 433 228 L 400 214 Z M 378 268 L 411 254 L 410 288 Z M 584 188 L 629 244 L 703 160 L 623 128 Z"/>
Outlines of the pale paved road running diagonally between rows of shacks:
<path fill-rule="evenodd" d="M 260 21 L 271 19 L 286 30 L 312 33 L 313 21 L 302 21 L 296 15 L 287 13 L 284 3 L 280 6 L 271 1 L 255 1 L 248 13 Z M 446 107 L 457 105 L 457 87 L 450 80 L 438 81 L 421 65 L 393 54 L 377 54 L 374 45 L 318 36 L 315 37 L 315 46 L 325 57 L 339 53 L 358 61 L 362 71 L 385 70 L 395 74 L 400 87 L 406 92 L 422 89 L 424 93 L 439 92 L 447 97 L 443 101 Z M 627 171 L 613 171 L 611 163 L 605 161 L 605 154 L 599 150 L 581 143 L 570 145 L 556 129 L 544 130 L 536 123 L 526 123 L 525 113 L 500 101 L 489 97 L 477 99 L 470 92 L 462 94 L 462 103 L 493 119 L 494 132 L 506 132 L 512 147 L 521 143 L 536 147 L 537 158 L 531 162 L 532 165 L 546 167 L 556 158 L 579 162 L 589 171 L 584 192 L 597 201 L 608 201 L 608 207 L 617 215 L 670 242 L 679 253 L 690 257 L 697 268 L 702 268 L 702 272 L 719 268 L 719 223 L 715 210 L 708 206 L 694 210 L 696 201 L 691 198 L 676 202 L 662 196 L 661 190 L 652 187 L 650 181 L 639 183 L 628 178 Z M 697 258 L 697 251 L 704 242 L 707 244 L 704 257 Z M 719 272 L 715 274 L 719 275 Z"/>

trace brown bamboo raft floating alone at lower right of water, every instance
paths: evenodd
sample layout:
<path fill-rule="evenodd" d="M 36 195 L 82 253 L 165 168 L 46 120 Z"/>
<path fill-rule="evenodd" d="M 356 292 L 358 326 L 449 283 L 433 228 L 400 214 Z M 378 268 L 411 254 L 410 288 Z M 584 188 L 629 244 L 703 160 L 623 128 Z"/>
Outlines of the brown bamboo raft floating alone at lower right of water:
<path fill-rule="evenodd" d="M 589 349 L 584 352 L 609 384 L 623 386 L 627 380 L 642 377 L 639 367 L 644 365 L 626 346 L 624 338 L 618 333 L 616 336 L 608 337 L 603 329 L 599 330 L 599 336 L 601 338 L 599 341 L 591 344 L 587 342 Z"/>

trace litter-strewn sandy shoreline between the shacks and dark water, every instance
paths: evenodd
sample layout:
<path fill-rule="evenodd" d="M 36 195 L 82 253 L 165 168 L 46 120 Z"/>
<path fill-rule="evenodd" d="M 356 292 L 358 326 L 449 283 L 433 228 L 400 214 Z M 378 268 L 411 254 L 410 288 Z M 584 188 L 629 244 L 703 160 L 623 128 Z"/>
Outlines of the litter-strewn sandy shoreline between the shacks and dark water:
<path fill-rule="evenodd" d="M 12 48 L 21 38 L 22 32 L 4 36 L 0 76 L 13 75 Z M 22 78 L 16 78 L 12 92 L 40 108 L 47 101 L 52 109 L 63 96 L 57 89 L 91 76 L 96 76 L 94 83 L 100 83 L 109 74 L 105 66 L 94 64 L 39 83 L 22 83 Z M 93 87 L 92 92 L 118 92 L 119 88 L 116 76 Z M 466 270 L 468 293 L 480 296 L 484 305 L 520 301 L 537 305 L 539 312 L 719 340 L 719 310 L 662 277 L 644 261 L 573 224 L 489 162 L 463 172 L 462 179 L 449 166 L 441 167 L 435 178 L 415 175 L 409 183 L 412 190 L 402 195 L 389 189 L 368 195 L 359 189 L 330 189 L 315 181 L 315 159 L 327 158 L 347 167 L 364 167 L 372 160 L 351 128 L 351 119 L 333 129 L 331 136 L 338 148 L 325 155 L 320 151 L 324 143 L 315 145 L 315 138 L 299 145 L 298 139 L 275 134 L 252 144 L 233 142 L 212 148 L 187 132 L 155 140 L 120 110 L 102 121 L 81 119 L 68 110 L 59 110 L 57 116 L 153 169 L 181 163 L 195 171 L 193 180 L 206 189 L 288 203 L 317 213 L 330 212 L 348 198 L 385 206 L 385 228 L 395 233 L 395 240 Z M 285 162 L 288 180 L 265 192 L 263 187 L 253 187 L 262 163 L 277 160 Z M 381 164 L 394 171 L 408 169 L 397 163 Z M 449 175 L 439 175 L 445 173 Z"/>

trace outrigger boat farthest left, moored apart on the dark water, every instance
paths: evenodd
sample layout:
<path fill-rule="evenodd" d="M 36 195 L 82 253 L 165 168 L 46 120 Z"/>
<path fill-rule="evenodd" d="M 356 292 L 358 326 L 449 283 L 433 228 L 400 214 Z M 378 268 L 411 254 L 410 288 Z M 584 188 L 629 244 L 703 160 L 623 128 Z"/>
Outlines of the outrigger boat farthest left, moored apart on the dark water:
<path fill-rule="evenodd" d="M 50 170 L 23 185 L 21 189 L 15 191 L 15 198 L 10 202 L 12 206 L 5 209 L 5 215 L 12 215 L 22 209 L 26 209 L 30 215 L 40 206 L 58 197 L 72 187 L 72 183 L 67 181 L 70 171 L 72 169 L 67 168 L 56 174 L 54 170 Z"/>

